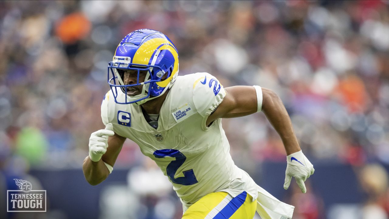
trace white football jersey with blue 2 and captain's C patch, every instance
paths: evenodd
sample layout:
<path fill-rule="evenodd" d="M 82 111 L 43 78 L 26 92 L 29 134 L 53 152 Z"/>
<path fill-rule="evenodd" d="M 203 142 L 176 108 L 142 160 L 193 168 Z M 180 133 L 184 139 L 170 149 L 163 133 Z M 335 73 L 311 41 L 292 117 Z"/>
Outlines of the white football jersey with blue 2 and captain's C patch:
<path fill-rule="evenodd" d="M 257 198 L 257 185 L 231 159 L 221 119 L 205 125 L 226 95 L 214 76 L 178 76 L 160 110 L 157 129 L 147 123 L 140 106 L 116 104 L 112 95 L 109 91 L 102 102 L 103 123 L 112 123 L 114 132 L 137 143 L 156 162 L 183 204 L 218 191 L 233 197 L 246 191 Z M 124 102 L 124 93 L 117 98 Z"/>

